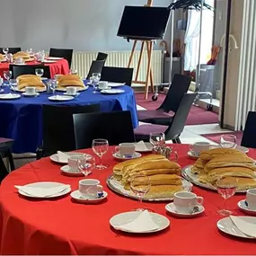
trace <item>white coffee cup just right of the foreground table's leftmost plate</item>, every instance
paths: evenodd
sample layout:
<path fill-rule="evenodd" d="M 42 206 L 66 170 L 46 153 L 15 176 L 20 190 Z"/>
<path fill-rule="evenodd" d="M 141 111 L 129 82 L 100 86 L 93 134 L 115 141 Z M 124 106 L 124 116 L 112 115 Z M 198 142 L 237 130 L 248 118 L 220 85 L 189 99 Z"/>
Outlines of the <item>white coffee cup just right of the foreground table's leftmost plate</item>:
<path fill-rule="evenodd" d="M 103 187 L 98 180 L 86 179 L 79 181 L 79 192 L 83 198 L 96 199 L 102 191 Z"/>

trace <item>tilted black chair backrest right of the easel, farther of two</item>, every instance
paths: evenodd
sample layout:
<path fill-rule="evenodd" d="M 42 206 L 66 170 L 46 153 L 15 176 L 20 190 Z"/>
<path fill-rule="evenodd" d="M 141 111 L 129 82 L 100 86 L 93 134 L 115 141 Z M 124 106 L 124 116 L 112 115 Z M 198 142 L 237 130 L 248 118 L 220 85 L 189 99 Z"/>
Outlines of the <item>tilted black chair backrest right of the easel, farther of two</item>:
<path fill-rule="evenodd" d="M 158 110 L 164 112 L 176 112 L 180 106 L 184 93 L 187 93 L 192 78 L 187 75 L 175 74 L 172 79 L 171 87 Z"/>

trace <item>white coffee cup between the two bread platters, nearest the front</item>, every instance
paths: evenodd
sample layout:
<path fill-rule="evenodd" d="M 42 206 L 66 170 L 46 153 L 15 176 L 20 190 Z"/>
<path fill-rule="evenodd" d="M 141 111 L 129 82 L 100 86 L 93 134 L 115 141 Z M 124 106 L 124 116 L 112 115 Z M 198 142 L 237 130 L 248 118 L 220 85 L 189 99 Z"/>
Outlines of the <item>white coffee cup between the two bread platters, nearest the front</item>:
<path fill-rule="evenodd" d="M 174 194 L 173 204 L 177 212 L 190 214 L 194 207 L 202 205 L 204 199 L 188 191 L 181 191 Z"/>

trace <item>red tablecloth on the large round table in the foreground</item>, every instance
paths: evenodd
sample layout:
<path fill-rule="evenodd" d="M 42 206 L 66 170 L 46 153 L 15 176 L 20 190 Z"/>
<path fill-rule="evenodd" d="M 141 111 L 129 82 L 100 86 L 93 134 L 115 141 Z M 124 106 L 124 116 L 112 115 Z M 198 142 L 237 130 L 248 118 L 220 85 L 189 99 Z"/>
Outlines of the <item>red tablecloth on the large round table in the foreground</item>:
<path fill-rule="evenodd" d="M 175 145 L 181 166 L 193 163 L 187 156 L 188 146 Z M 111 151 L 104 162 L 116 163 Z M 86 150 L 90 152 L 91 150 Z M 249 155 L 256 157 L 256 150 Z M 222 234 L 216 228 L 221 218 L 216 213 L 223 199 L 215 192 L 194 187 L 193 191 L 204 197 L 206 211 L 202 216 L 179 219 L 169 216 L 165 203 L 146 203 L 145 207 L 167 216 L 171 226 L 160 234 L 131 235 L 113 231 L 111 216 L 137 207 L 137 201 L 116 195 L 106 186 L 108 170 L 97 171 L 92 178 L 99 179 L 109 193 L 100 205 L 83 205 L 62 199 L 29 200 L 20 197 L 13 185 L 35 181 L 61 181 L 77 190 L 81 178 L 60 174 L 59 165 L 49 158 L 27 164 L 12 172 L 1 185 L 1 254 L 180 254 L 180 255 L 238 255 L 255 254 L 255 240 L 243 240 Z M 236 203 L 244 195 L 229 199 L 228 206 L 235 214 L 243 215 Z"/>

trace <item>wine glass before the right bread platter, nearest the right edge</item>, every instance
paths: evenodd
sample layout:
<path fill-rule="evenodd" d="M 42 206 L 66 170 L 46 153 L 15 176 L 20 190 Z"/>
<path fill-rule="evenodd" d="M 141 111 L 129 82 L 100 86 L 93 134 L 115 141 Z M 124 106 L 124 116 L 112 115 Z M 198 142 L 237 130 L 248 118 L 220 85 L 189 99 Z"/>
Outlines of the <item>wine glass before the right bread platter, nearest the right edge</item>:
<path fill-rule="evenodd" d="M 225 209 L 226 199 L 234 196 L 237 190 L 237 180 L 234 177 L 228 177 L 225 179 L 220 179 L 216 181 L 217 192 L 224 198 L 223 209 L 219 210 L 218 213 L 222 216 L 229 216 L 232 214 L 232 211 Z"/>

